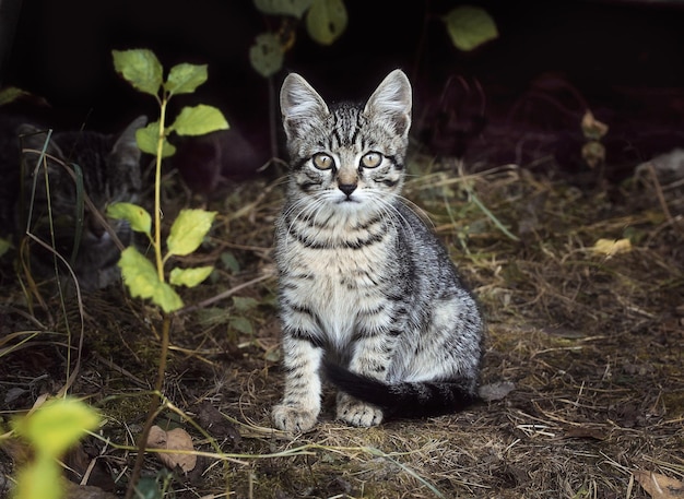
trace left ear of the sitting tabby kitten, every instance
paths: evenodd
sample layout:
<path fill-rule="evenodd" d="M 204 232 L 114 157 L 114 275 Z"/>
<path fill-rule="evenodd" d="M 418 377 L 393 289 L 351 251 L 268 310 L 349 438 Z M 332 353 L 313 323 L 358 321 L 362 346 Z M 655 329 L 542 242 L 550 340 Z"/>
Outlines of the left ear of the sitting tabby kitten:
<path fill-rule="evenodd" d="M 287 139 L 300 138 L 305 130 L 330 114 L 326 102 L 318 92 L 297 73 L 285 78 L 280 91 L 280 108 Z"/>

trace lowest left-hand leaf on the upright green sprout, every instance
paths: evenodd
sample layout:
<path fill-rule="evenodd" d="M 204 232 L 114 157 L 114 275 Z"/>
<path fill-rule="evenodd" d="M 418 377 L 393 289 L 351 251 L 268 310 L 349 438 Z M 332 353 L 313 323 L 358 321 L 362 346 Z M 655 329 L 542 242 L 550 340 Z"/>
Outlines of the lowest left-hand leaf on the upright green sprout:
<path fill-rule="evenodd" d="M 182 300 L 174 288 L 160 281 L 152 262 L 134 247 L 129 246 L 121 252 L 118 265 L 133 298 L 150 298 L 167 313 L 182 307 Z"/>

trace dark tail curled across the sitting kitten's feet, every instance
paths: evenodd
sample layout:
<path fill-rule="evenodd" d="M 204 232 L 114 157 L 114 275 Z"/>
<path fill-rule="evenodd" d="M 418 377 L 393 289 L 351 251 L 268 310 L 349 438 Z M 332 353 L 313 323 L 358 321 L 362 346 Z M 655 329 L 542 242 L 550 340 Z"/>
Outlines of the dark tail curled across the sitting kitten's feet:
<path fill-rule="evenodd" d="M 337 364 L 323 363 L 328 380 L 343 392 L 382 409 L 386 417 L 427 417 L 462 411 L 480 401 L 458 380 L 389 384 Z"/>

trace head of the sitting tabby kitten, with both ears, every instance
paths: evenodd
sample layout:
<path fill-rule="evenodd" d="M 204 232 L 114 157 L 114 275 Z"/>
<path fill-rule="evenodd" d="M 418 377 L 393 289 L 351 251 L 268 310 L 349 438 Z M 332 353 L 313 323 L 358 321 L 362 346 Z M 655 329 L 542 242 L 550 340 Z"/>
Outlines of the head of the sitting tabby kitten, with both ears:
<path fill-rule="evenodd" d="M 298 74 L 285 78 L 281 111 L 291 156 L 291 195 L 367 211 L 401 191 L 411 127 L 411 84 L 389 73 L 365 106 L 328 106 Z"/>

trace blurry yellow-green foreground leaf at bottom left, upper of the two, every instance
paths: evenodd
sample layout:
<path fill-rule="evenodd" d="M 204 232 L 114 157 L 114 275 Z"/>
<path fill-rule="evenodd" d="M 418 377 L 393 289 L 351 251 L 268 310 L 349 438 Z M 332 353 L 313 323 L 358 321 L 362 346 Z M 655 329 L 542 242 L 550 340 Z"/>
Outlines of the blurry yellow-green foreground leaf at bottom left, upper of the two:
<path fill-rule="evenodd" d="M 97 425 L 99 416 L 89 405 L 75 399 L 54 399 L 20 419 L 16 430 L 38 454 L 58 458 Z"/>

